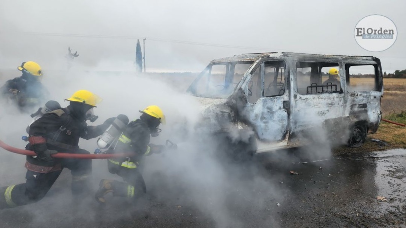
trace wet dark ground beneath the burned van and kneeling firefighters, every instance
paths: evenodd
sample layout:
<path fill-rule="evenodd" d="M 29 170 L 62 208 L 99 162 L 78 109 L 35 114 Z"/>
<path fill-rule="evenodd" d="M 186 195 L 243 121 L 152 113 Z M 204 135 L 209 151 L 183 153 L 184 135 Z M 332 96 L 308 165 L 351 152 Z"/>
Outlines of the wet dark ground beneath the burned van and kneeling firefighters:
<path fill-rule="evenodd" d="M 285 153 L 223 164 L 224 172 L 196 176 L 197 181 L 184 179 L 181 169 L 177 175 L 147 169 L 148 191 L 136 204 L 106 197 L 101 206 L 91 195 L 75 199 L 64 171 L 42 201 L 1 210 L 0 226 L 406 227 L 406 150 L 326 154 L 317 160 Z"/>

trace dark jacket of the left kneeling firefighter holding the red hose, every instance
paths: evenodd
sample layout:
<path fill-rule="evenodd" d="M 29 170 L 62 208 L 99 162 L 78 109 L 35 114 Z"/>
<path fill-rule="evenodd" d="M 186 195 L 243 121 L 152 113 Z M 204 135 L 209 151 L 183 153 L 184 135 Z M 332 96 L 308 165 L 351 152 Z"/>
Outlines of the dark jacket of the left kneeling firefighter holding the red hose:
<path fill-rule="evenodd" d="M 76 117 L 72 107 L 67 106 L 46 113 L 29 126 L 28 132 L 30 136 L 46 138 L 48 149 L 57 150 L 59 153 L 75 153 L 79 149 L 79 138 L 91 139 L 103 134 L 111 124 L 107 122 L 97 126 L 87 126 L 85 120 Z M 32 149 L 29 143 L 26 148 Z M 31 156 L 27 156 L 27 161 L 34 165 L 53 165 Z"/>

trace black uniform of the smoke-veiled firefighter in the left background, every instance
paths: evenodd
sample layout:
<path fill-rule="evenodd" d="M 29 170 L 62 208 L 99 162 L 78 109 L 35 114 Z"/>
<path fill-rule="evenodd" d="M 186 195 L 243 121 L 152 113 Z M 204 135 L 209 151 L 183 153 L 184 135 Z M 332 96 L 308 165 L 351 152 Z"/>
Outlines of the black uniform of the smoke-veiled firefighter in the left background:
<path fill-rule="evenodd" d="M 41 104 L 49 96 L 48 90 L 38 80 L 38 77 L 26 73 L 18 78 L 8 80 L 0 88 L 0 93 L 4 98 L 15 102 L 23 111 L 30 111 L 33 107 L 42 106 Z"/>

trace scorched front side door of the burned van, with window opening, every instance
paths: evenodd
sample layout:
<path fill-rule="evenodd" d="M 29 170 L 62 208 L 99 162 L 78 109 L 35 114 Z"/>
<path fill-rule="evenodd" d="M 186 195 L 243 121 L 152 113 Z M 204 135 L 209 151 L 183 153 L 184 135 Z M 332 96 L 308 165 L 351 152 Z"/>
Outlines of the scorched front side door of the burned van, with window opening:
<path fill-rule="evenodd" d="M 264 61 L 245 83 L 247 105 L 242 115 L 253 126 L 257 152 L 283 148 L 288 137 L 288 72 L 285 61 Z"/>

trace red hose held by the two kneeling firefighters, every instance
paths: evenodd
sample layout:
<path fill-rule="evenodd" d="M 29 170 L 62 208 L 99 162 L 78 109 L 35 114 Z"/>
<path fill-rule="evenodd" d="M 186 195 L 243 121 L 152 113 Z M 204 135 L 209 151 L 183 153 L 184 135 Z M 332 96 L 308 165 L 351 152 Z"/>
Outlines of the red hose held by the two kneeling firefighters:
<path fill-rule="evenodd" d="M 28 155 L 28 156 L 37 156 L 34 151 L 19 149 L 10 145 L 7 145 L 2 140 L 0 140 L 0 147 L 10 152 L 19 154 L 19 155 Z M 84 155 L 84 154 L 68 154 L 68 153 L 58 153 L 51 155 L 53 158 L 73 158 L 73 159 L 110 159 L 110 158 L 122 158 L 130 157 L 133 154 L 101 154 L 101 155 Z"/>

